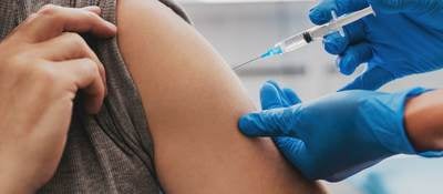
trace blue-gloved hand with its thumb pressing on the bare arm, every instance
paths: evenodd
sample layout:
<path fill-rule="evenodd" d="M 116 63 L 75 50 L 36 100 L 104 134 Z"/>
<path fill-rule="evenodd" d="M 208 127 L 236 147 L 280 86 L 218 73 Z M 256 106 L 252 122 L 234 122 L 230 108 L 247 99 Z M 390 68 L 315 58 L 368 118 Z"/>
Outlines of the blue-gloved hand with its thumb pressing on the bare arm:
<path fill-rule="evenodd" d="M 341 181 L 394 154 L 416 154 L 403 129 L 403 106 L 424 91 L 346 91 L 301 103 L 291 90 L 267 82 L 265 111 L 241 116 L 239 127 L 248 136 L 272 136 L 308 178 Z"/>

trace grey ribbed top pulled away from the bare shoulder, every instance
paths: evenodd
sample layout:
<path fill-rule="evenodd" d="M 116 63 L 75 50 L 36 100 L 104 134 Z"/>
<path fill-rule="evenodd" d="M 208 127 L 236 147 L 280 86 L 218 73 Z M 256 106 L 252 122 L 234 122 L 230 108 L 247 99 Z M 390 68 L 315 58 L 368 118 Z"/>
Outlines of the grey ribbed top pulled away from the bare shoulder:
<path fill-rule="evenodd" d="M 189 22 L 173 1 L 162 2 Z M 0 40 L 48 3 L 99 6 L 105 20 L 116 20 L 116 0 L 0 0 Z M 85 114 L 81 98 L 75 100 L 59 169 L 38 193 L 161 193 L 146 114 L 116 39 L 86 41 L 105 65 L 109 94 L 102 111 L 94 116 Z"/>

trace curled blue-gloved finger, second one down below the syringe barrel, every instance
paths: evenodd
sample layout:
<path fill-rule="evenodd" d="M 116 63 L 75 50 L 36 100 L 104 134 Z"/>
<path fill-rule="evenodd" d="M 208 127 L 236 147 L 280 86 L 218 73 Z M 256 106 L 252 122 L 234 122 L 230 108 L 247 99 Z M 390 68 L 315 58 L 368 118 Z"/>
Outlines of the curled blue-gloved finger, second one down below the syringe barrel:
<path fill-rule="evenodd" d="M 357 67 L 372 58 L 372 47 L 368 42 L 349 47 L 337 60 L 341 73 L 352 74 Z"/>

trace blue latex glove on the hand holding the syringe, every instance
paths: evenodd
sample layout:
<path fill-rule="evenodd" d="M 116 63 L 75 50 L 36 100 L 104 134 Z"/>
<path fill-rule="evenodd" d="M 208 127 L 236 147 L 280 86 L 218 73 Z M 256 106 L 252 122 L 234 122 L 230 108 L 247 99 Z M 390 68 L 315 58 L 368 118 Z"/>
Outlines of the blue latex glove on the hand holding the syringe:
<path fill-rule="evenodd" d="M 375 90 L 384 83 L 443 67 L 442 0 L 322 0 L 309 17 L 316 24 L 331 19 L 331 10 L 343 14 L 368 4 L 377 17 L 344 28 L 346 38 L 327 35 L 324 49 L 338 54 L 343 74 L 352 74 L 368 62 L 368 70 L 342 90 Z"/>

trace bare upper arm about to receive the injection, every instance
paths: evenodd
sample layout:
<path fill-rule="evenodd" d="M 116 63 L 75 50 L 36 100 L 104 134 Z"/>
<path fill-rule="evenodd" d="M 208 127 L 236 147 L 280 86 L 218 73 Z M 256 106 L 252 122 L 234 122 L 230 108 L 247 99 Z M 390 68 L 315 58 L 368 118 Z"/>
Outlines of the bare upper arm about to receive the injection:
<path fill-rule="evenodd" d="M 156 0 L 119 1 L 117 16 L 167 193 L 315 193 L 269 139 L 238 132 L 255 106 L 198 32 Z"/>

